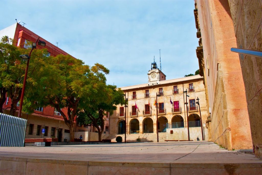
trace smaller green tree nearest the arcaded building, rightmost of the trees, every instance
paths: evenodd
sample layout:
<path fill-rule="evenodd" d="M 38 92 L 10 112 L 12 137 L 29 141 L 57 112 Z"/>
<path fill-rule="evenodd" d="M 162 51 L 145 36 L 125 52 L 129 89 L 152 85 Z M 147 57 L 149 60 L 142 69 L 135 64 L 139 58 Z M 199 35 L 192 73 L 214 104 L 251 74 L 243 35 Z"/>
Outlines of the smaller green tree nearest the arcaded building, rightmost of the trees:
<path fill-rule="evenodd" d="M 106 85 L 104 88 L 103 91 L 106 93 L 100 95 L 99 99 L 94 96 L 94 99 L 88 98 L 88 100 L 81 101 L 80 106 L 83 108 L 83 111 L 79 112 L 80 122 L 84 122 L 83 124 L 92 124 L 97 128 L 99 141 L 102 141 L 102 133 L 105 127 L 103 117 L 106 115 L 106 112 L 112 115 L 117 109 L 116 105 L 123 105 L 125 103 L 121 89 L 117 89 L 113 85 Z"/>

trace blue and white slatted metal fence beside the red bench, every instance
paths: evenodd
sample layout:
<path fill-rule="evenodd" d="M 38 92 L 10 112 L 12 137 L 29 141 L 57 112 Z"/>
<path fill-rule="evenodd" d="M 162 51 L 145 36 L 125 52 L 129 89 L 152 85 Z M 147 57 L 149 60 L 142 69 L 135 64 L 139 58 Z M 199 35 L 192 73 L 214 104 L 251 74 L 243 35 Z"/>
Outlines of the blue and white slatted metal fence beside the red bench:
<path fill-rule="evenodd" d="M 26 121 L 0 113 L 0 146 L 24 146 Z"/>

